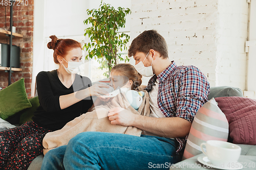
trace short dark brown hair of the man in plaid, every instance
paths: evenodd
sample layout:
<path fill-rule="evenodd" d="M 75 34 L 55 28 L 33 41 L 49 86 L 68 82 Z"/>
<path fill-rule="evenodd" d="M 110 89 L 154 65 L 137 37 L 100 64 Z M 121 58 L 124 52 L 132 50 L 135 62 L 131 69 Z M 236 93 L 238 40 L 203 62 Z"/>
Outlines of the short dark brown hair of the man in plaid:
<path fill-rule="evenodd" d="M 147 54 L 151 49 L 160 53 L 162 58 L 168 58 L 167 43 L 156 30 L 147 30 L 138 35 L 129 47 L 128 56 L 132 57 L 137 52 Z"/>

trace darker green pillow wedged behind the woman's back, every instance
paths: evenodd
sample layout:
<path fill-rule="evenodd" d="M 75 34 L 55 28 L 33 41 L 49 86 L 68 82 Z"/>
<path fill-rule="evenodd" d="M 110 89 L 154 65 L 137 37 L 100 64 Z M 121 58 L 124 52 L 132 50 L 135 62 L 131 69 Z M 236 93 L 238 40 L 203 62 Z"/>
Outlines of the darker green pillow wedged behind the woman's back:
<path fill-rule="evenodd" d="M 26 122 L 32 120 L 34 112 L 40 105 L 38 96 L 29 99 L 29 102 L 31 103 L 32 107 L 22 110 L 23 113 L 20 115 L 19 125 L 25 124 Z"/>

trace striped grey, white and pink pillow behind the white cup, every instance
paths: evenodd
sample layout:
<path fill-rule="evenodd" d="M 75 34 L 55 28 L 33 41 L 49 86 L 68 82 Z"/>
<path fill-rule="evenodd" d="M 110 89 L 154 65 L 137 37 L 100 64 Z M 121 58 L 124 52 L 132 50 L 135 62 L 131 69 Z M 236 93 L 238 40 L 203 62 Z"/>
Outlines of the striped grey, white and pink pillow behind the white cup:
<path fill-rule="evenodd" d="M 227 141 L 228 122 L 214 98 L 205 103 L 197 112 L 188 134 L 183 158 L 201 154 L 200 144 L 207 140 Z"/>

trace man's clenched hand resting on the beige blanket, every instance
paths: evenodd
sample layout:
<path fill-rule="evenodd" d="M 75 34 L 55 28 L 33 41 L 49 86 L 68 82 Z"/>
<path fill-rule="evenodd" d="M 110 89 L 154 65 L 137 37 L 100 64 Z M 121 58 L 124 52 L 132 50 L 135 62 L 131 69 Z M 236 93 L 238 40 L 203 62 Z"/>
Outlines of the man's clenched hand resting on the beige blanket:
<path fill-rule="evenodd" d="M 137 115 L 121 107 L 116 107 L 110 109 L 108 116 L 113 125 L 132 126 Z"/>

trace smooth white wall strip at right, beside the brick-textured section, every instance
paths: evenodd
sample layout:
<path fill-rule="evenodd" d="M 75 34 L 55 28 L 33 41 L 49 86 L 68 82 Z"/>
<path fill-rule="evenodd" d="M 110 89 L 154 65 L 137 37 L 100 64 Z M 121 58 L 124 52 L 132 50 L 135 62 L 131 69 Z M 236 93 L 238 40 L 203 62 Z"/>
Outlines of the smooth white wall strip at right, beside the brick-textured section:
<path fill-rule="evenodd" d="M 216 85 L 246 88 L 247 1 L 219 0 Z"/>

